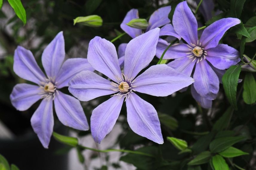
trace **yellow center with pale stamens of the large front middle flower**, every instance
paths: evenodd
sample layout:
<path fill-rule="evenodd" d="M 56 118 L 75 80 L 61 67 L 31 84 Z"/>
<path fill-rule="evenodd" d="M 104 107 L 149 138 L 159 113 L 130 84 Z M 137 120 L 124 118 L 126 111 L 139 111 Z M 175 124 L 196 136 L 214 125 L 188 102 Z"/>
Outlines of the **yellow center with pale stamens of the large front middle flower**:
<path fill-rule="evenodd" d="M 135 79 L 132 78 L 128 78 L 127 75 L 124 75 L 124 73 L 122 73 L 121 75 L 121 78 L 116 76 L 116 79 L 117 79 L 117 82 L 111 82 L 110 84 L 112 86 L 114 86 L 114 88 L 111 88 L 112 90 L 118 92 L 112 96 L 116 96 L 116 95 L 119 95 L 119 96 L 124 96 L 125 98 L 125 101 L 127 99 L 127 95 L 128 95 L 128 98 L 129 98 L 129 94 L 130 93 L 133 93 L 133 91 L 135 92 L 134 89 L 132 89 L 133 87 L 136 87 L 136 86 L 133 86 L 132 83 L 135 81 Z"/>

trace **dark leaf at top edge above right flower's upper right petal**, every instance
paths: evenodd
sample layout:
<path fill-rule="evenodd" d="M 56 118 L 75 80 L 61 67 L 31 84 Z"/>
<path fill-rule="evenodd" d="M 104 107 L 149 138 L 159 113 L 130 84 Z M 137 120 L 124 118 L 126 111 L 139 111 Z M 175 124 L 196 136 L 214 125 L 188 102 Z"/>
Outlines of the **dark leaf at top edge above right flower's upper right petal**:
<path fill-rule="evenodd" d="M 231 0 L 229 16 L 234 18 L 240 18 L 245 1 L 246 0 Z"/>

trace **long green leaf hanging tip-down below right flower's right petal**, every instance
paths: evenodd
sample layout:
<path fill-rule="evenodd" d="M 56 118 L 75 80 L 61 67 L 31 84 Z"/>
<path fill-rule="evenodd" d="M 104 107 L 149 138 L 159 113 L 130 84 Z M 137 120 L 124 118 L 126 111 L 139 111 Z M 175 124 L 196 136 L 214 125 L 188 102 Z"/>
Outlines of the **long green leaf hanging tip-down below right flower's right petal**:
<path fill-rule="evenodd" d="M 225 94 L 235 110 L 237 110 L 237 84 L 240 72 L 241 65 L 231 66 L 222 77 Z"/>

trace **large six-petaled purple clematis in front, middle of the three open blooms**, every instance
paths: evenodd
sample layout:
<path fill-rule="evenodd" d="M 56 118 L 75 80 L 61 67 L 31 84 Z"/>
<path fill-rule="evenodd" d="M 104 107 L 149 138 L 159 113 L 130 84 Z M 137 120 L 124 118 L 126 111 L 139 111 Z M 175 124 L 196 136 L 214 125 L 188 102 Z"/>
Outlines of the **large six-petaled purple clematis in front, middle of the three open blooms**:
<path fill-rule="evenodd" d="M 112 81 L 94 72 L 83 71 L 71 79 L 68 89 L 80 101 L 113 94 L 92 112 L 91 131 L 97 143 L 112 130 L 124 101 L 127 107 L 127 120 L 133 132 L 156 143 L 163 143 L 156 110 L 135 92 L 167 96 L 192 84 L 193 78 L 166 64 L 151 66 L 137 76 L 155 56 L 158 37 L 159 28 L 155 28 L 127 44 L 123 73 L 118 64 L 115 46 L 111 42 L 100 37 L 90 41 L 87 57 L 89 63 Z"/>

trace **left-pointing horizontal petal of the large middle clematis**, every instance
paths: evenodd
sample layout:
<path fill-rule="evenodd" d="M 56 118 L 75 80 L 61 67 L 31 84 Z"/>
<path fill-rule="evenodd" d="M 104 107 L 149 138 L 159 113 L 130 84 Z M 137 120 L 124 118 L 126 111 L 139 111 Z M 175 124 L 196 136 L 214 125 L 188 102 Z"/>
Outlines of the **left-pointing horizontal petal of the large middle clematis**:
<path fill-rule="evenodd" d="M 82 71 L 75 75 L 68 83 L 69 92 L 80 101 L 115 93 L 110 81 L 91 71 Z"/>

